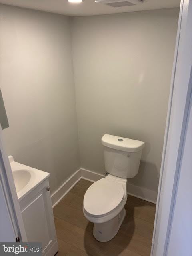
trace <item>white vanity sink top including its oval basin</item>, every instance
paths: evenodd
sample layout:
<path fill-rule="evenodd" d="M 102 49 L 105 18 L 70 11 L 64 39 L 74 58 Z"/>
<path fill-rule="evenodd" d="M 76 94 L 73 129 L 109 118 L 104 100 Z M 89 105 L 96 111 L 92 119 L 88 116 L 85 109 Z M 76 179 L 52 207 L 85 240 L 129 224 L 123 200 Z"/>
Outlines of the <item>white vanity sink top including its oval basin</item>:
<path fill-rule="evenodd" d="M 50 176 L 48 172 L 43 172 L 38 169 L 15 162 L 12 156 L 9 156 L 9 162 L 12 169 L 17 197 L 19 200 L 24 198 Z"/>

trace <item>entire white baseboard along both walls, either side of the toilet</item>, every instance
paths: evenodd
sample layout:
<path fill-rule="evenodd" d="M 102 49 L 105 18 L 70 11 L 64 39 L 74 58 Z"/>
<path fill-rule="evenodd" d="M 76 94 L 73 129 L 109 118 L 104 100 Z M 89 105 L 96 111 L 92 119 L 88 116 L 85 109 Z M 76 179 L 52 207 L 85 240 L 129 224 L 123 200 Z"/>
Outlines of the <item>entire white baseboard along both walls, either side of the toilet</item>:
<path fill-rule="evenodd" d="M 77 170 L 66 182 L 64 182 L 52 195 L 52 207 L 56 206 L 60 200 L 75 186 L 75 184 L 81 179 L 89 180 L 91 182 L 96 182 L 105 176 L 102 174 L 98 174 L 96 172 L 92 172 L 90 170 L 86 170 L 84 168 L 80 168 Z M 148 188 L 143 188 L 139 186 L 135 186 L 133 184 L 128 184 L 127 186 L 127 194 L 131 196 L 135 196 L 137 198 L 143 199 L 148 202 L 152 202 L 156 204 L 157 199 L 157 191 L 150 190 Z"/>

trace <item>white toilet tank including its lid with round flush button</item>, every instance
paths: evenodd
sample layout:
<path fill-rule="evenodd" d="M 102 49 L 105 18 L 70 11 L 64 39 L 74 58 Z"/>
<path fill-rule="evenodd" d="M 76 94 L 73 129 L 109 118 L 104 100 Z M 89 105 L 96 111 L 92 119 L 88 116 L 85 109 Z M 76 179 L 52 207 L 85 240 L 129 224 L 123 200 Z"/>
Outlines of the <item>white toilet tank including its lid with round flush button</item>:
<path fill-rule="evenodd" d="M 133 178 L 137 175 L 144 142 L 105 134 L 102 144 L 105 170 L 108 173 L 120 178 Z"/>

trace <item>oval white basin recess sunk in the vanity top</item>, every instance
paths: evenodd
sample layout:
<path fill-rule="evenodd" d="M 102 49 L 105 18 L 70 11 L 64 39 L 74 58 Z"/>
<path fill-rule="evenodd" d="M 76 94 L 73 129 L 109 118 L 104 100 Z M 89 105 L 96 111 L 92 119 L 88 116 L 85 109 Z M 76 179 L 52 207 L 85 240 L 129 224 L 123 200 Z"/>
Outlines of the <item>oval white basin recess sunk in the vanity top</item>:
<path fill-rule="evenodd" d="M 28 170 L 15 170 L 12 173 L 16 192 L 18 193 L 30 182 L 31 174 Z"/>

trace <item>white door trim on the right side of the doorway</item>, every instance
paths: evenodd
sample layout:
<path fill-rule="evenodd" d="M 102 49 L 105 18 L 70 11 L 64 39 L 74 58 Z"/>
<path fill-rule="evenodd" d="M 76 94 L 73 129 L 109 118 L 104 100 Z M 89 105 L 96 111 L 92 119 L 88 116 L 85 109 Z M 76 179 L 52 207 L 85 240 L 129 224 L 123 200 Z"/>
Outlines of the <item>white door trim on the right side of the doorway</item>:
<path fill-rule="evenodd" d="M 192 0 L 181 0 L 151 256 L 166 256 L 192 84 Z"/>

